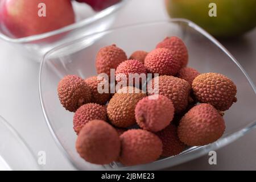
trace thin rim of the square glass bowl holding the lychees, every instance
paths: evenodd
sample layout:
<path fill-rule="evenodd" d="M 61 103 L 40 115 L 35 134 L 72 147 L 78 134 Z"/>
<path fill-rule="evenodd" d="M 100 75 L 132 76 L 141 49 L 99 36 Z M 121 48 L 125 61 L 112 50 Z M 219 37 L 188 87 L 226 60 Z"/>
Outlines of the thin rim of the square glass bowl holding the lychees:
<path fill-rule="evenodd" d="M 116 28 L 112 28 L 112 29 L 109 29 L 109 30 L 101 31 L 101 32 L 94 32 L 93 34 L 83 36 L 80 39 L 86 39 L 86 37 L 90 37 L 90 36 L 93 36 L 93 35 L 104 34 L 104 33 L 107 33 L 107 32 L 117 31 L 117 30 L 129 28 L 129 27 L 146 26 L 146 25 L 150 25 L 150 24 L 171 23 L 171 22 L 187 23 L 187 26 L 193 28 L 194 30 L 196 30 L 200 34 L 204 35 L 213 44 L 215 44 L 218 48 L 220 48 L 223 52 L 225 52 L 225 54 L 228 55 L 228 57 L 237 65 L 237 67 L 240 68 L 240 70 L 242 71 L 243 75 L 245 75 L 245 77 L 247 78 L 247 81 L 249 82 L 251 88 L 253 89 L 253 91 L 254 91 L 254 93 L 256 95 L 256 87 L 255 87 L 253 81 L 247 75 L 247 73 L 242 68 L 240 63 L 238 63 L 238 61 L 231 55 L 231 53 L 224 46 L 222 46 L 222 44 L 220 42 L 218 42 L 218 40 L 213 38 L 212 35 L 208 34 L 207 31 L 203 30 L 203 28 L 197 26 L 197 24 L 195 24 L 195 23 L 193 23 L 193 22 L 191 22 L 190 20 L 187 20 L 187 19 L 172 18 L 170 20 L 159 20 L 159 21 L 154 21 L 154 22 L 130 24 L 130 25 L 116 27 Z M 70 158 L 70 156 L 67 153 L 67 151 L 65 151 L 65 148 L 61 145 L 61 143 L 59 142 L 59 139 L 57 139 L 57 136 L 55 135 L 55 133 L 54 133 L 54 131 L 52 129 L 51 122 L 49 122 L 47 114 L 46 114 L 46 111 L 44 110 L 44 101 L 43 101 L 43 98 L 42 98 L 42 88 L 41 88 L 41 77 L 42 77 L 43 65 L 45 64 L 45 62 L 47 60 L 47 57 L 49 55 L 51 55 L 51 53 L 57 51 L 58 49 L 64 48 L 64 47 L 66 47 L 66 46 L 68 46 L 70 44 L 76 43 L 80 39 L 76 39 L 76 40 L 73 40 L 72 42 L 64 43 L 61 46 L 55 47 L 51 51 L 48 51 L 43 56 L 43 58 L 42 58 L 42 62 L 41 62 L 41 65 L 40 65 L 40 72 L 39 72 L 39 96 L 40 96 L 40 102 L 41 102 L 44 118 L 46 119 L 46 122 L 47 122 L 47 125 L 49 127 L 49 130 L 51 131 L 51 134 L 52 134 L 53 138 L 55 139 L 55 142 L 56 142 L 57 146 L 59 146 L 59 148 L 63 152 L 63 154 L 65 156 L 67 156 L 67 159 L 69 160 L 69 162 L 74 167 L 76 167 L 77 169 L 79 169 L 79 168 L 72 161 L 72 159 Z M 256 128 L 256 120 L 255 121 L 251 121 L 251 123 L 248 124 L 243 129 L 238 130 L 238 131 L 236 131 L 236 132 L 234 132 L 232 134 L 226 135 L 226 137 L 220 138 L 216 142 L 208 144 L 207 146 L 200 146 L 200 147 L 189 148 L 188 150 L 183 151 L 181 154 L 179 154 L 179 155 L 183 156 L 183 158 L 181 160 L 179 160 L 179 161 L 177 161 L 177 160 L 173 161 L 172 160 L 172 164 L 173 164 L 172 166 L 175 166 L 177 164 L 181 164 L 181 163 L 184 163 L 184 162 L 188 162 L 191 159 L 199 158 L 200 156 L 207 154 L 211 150 L 217 150 L 218 148 L 221 148 L 221 147 L 225 146 L 226 144 L 234 142 L 234 140 L 237 140 L 238 138 L 242 137 L 243 135 L 245 135 L 246 133 L 248 133 L 249 131 L 251 131 L 254 128 Z M 190 154 L 193 154 L 193 157 L 191 157 L 192 155 L 190 155 Z M 141 165 L 137 165 L 137 166 L 122 167 L 122 168 L 116 168 L 116 169 L 114 168 L 114 170 L 141 170 L 141 169 L 143 169 L 143 170 L 152 170 L 152 164 L 154 164 L 154 169 L 163 169 L 163 168 L 170 167 L 170 164 L 168 164 L 167 161 L 170 160 L 171 158 L 172 157 L 165 158 L 165 159 L 160 159 L 160 160 L 157 160 L 157 161 L 155 161 L 153 163 L 141 164 Z"/>

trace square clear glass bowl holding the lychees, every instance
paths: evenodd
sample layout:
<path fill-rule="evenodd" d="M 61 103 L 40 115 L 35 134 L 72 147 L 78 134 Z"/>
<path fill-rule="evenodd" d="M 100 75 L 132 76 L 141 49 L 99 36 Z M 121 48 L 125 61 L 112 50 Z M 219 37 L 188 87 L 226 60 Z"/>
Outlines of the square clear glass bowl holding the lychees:
<path fill-rule="evenodd" d="M 82 78 L 96 75 L 95 57 L 101 47 L 117 44 L 126 51 L 151 51 L 166 36 L 178 36 L 187 45 L 189 67 L 199 72 L 217 72 L 231 78 L 237 85 L 237 103 L 225 112 L 225 134 L 212 144 L 191 147 L 180 155 L 159 159 L 139 166 L 123 167 L 119 163 L 98 166 L 85 162 L 76 152 L 73 113 L 66 111 L 57 96 L 57 84 L 65 75 Z M 103 31 L 49 51 L 43 58 L 39 76 L 39 92 L 49 130 L 67 158 L 77 169 L 162 169 L 195 159 L 233 142 L 256 124 L 255 86 L 241 65 L 207 32 L 185 19 L 172 19 L 115 28 Z"/>

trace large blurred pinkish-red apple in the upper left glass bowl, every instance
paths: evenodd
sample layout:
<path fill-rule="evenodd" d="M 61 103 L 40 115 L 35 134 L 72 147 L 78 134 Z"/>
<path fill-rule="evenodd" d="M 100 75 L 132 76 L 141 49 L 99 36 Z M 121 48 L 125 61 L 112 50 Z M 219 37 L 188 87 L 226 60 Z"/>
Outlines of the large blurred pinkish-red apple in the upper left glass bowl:
<path fill-rule="evenodd" d="M 0 24 L 14 38 L 43 34 L 75 22 L 70 0 L 2 0 Z"/>

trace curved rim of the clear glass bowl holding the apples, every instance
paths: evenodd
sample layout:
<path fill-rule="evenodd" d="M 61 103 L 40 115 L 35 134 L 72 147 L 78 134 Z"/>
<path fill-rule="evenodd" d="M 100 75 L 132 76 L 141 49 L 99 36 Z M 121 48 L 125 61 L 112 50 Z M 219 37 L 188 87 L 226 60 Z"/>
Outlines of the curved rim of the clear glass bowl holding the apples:
<path fill-rule="evenodd" d="M 0 39 L 3 39 L 7 42 L 12 42 L 12 43 L 29 43 L 29 42 L 34 42 L 34 41 L 37 41 L 40 39 L 46 39 L 46 38 L 49 38 L 54 35 L 58 35 L 58 34 L 61 34 L 64 32 L 75 30 L 76 28 L 88 26 L 89 24 L 92 24 L 92 23 L 96 22 L 97 20 L 100 20 L 101 18 L 104 18 L 105 16 L 111 15 L 115 11 L 118 11 L 119 9 L 121 9 L 121 7 L 123 7 L 123 5 L 125 5 L 125 3 L 127 1 L 128 0 L 122 0 L 118 3 L 116 3 L 115 5 L 112 5 L 106 9 L 96 13 L 93 16 L 90 16 L 89 18 L 85 18 L 85 19 L 81 20 L 80 22 L 70 24 L 69 26 L 65 26 L 65 27 L 59 28 L 57 30 L 46 32 L 44 34 L 27 36 L 24 38 L 10 38 L 9 36 L 3 34 L 0 31 Z"/>

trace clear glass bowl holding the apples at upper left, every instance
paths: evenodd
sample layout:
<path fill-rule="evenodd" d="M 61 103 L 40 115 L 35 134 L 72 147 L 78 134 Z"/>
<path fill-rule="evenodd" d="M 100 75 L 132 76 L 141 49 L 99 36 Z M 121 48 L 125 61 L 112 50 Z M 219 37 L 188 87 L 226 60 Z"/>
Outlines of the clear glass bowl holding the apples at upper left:
<path fill-rule="evenodd" d="M 0 0 L 0 2 L 1 1 L 5 0 Z M 25 38 L 11 38 L 3 34 L 0 27 L 0 39 L 12 43 L 16 50 L 28 58 L 40 61 L 42 56 L 53 47 L 70 42 L 81 36 L 92 34 L 96 31 L 108 29 L 113 24 L 117 11 L 120 10 L 126 2 L 127 0 L 121 0 L 119 3 L 105 10 L 96 12 L 85 3 L 72 1 L 76 15 L 76 23 L 55 31 Z"/>

